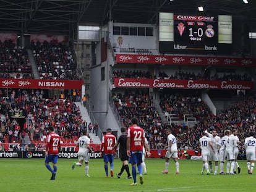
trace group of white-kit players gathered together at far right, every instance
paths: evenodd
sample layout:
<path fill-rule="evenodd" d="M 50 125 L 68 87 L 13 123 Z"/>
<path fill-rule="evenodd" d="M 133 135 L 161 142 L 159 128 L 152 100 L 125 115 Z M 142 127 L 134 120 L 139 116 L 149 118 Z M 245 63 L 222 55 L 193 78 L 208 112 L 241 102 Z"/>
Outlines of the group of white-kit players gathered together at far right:
<path fill-rule="evenodd" d="M 237 156 L 239 153 L 239 147 L 241 141 L 237 136 L 237 130 L 225 130 L 224 136 L 220 138 L 217 136 L 215 130 L 208 133 L 207 130 L 203 131 L 202 138 L 199 140 L 200 148 L 202 149 L 202 160 L 203 168 L 202 174 L 206 170 L 207 175 L 213 172 L 213 164 L 215 162 L 214 175 L 218 172 L 218 162 L 220 161 L 220 174 L 224 173 L 224 162 L 226 163 L 226 174 L 236 175 L 236 173 L 241 172 L 241 168 L 237 162 Z M 249 174 L 252 174 L 254 170 L 255 162 L 255 149 L 256 149 L 256 139 L 254 138 L 254 133 L 250 132 L 249 137 L 245 138 L 244 146 L 246 150 L 247 157 L 247 170 Z M 237 172 L 236 172 L 237 170 Z"/>

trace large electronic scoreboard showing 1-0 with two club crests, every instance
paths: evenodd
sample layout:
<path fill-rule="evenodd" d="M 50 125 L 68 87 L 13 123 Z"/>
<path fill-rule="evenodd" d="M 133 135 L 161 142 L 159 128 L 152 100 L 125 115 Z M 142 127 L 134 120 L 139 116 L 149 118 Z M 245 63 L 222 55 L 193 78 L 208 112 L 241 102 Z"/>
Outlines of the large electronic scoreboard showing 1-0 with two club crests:
<path fill-rule="evenodd" d="M 232 44 L 232 19 L 231 24 L 228 23 L 229 25 L 226 25 L 226 21 L 221 21 L 225 24 L 221 26 L 228 26 L 228 30 L 221 29 L 221 33 L 222 31 L 224 33 L 229 32 L 231 28 L 231 35 L 228 36 L 229 38 L 231 36 L 231 43 L 220 44 L 219 39 L 220 36 L 223 38 L 223 35 L 219 34 L 220 22 L 218 18 L 218 16 L 213 15 L 160 14 L 160 52 L 185 54 L 229 53 Z"/>

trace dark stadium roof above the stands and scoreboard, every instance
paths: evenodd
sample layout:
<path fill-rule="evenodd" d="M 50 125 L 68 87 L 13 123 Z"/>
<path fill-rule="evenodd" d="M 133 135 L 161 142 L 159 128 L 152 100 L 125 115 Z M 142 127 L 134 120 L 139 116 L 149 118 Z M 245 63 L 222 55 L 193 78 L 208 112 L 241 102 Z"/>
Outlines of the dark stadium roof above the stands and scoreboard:
<path fill-rule="evenodd" d="M 157 23 L 158 12 L 236 15 L 256 22 L 256 1 L 248 0 L 0 0 L 0 31 L 69 34 L 77 23 Z M 198 12 L 203 6 L 204 12 Z"/>

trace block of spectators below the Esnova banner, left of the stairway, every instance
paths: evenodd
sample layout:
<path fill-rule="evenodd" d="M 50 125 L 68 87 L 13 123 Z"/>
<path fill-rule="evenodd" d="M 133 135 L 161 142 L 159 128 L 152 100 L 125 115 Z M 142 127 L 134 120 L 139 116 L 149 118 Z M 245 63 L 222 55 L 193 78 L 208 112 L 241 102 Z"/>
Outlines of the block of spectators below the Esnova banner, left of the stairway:
<path fill-rule="evenodd" d="M 129 91 L 113 94 L 113 102 L 125 127 L 129 127 L 132 117 L 139 119 L 139 125 L 145 130 L 151 149 L 165 149 L 165 127 L 156 111 L 153 98 L 143 91 Z"/>

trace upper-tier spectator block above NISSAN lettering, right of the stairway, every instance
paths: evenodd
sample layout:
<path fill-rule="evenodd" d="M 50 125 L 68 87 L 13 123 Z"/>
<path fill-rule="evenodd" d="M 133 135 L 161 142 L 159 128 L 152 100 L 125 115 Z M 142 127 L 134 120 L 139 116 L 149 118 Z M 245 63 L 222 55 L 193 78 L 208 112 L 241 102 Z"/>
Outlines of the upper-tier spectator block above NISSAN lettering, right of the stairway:
<path fill-rule="evenodd" d="M 77 72 L 77 65 L 72 57 L 69 43 L 40 41 L 31 42 L 33 56 L 43 79 L 80 80 L 82 76 Z"/>

